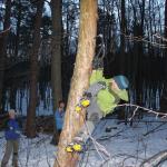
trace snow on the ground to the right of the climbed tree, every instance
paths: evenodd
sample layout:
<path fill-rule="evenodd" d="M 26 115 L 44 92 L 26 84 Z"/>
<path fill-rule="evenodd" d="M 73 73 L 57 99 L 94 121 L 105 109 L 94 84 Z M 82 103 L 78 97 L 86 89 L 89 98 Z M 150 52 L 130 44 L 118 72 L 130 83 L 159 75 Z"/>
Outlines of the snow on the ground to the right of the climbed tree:
<path fill-rule="evenodd" d="M 154 122 L 151 122 L 154 121 Z M 139 165 L 149 157 L 165 150 L 167 146 L 167 124 L 164 124 L 154 132 L 146 135 L 163 122 L 159 118 L 147 117 L 141 122 L 129 125 L 117 124 L 117 119 L 104 119 L 95 131 L 96 140 L 106 147 L 110 157 L 95 149 L 90 141 L 88 150 L 82 155 L 79 166 L 84 167 L 139 167 Z M 106 127 L 114 127 L 110 132 L 106 132 Z M 116 129 L 117 127 L 117 129 Z M 106 139 L 105 139 L 106 138 Z M 101 158 L 102 156 L 104 158 Z M 161 167 L 166 167 L 164 163 Z"/>

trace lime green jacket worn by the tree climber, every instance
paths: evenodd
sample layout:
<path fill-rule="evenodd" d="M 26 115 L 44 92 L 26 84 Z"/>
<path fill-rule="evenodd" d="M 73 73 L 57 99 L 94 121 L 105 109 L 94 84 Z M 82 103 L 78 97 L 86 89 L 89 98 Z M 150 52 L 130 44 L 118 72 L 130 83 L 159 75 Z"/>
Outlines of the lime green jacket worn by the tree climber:
<path fill-rule="evenodd" d="M 99 108 L 101 109 L 104 116 L 106 116 L 109 112 L 112 112 L 120 99 L 128 101 L 128 92 L 126 89 L 122 90 L 112 90 L 111 92 L 109 90 L 109 82 L 111 79 L 106 79 L 102 73 L 102 69 L 100 70 L 92 70 L 91 77 L 90 77 L 90 85 L 98 82 L 98 81 L 105 81 L 106 82 L 106 89 L 101 89 L 97 94 L 97 104 Z"/>

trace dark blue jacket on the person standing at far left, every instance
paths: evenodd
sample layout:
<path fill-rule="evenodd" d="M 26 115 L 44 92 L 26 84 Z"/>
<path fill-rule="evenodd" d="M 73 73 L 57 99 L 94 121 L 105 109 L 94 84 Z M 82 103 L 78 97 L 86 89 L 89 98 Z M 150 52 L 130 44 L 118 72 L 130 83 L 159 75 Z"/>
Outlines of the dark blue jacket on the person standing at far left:
<path fill-rule="evenodd" d="M 16 119 L 9 119 L 4 132 L 7 140 L 17 140 L 20 137 L 19 125 Z"/>

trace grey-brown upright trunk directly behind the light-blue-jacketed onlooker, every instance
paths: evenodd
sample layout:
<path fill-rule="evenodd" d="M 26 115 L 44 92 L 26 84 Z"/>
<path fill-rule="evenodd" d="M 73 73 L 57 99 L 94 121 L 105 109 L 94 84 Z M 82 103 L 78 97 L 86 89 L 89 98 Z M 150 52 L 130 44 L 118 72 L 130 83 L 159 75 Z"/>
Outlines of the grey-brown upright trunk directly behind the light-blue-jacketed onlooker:
<path fill-rule="evenodd" d="M 61 88 L 61 4 L 62 0 L 51 1 L 51 13 L 52 13 L 52 57 L 51 57 L 51 85 L 52 85 L 52 102 L 53 112 L 58 107 L 59 100 L 62 99 L 62 88 Z M 58 132 L 56 124 L 53 124 L 53 143 L 58 143 Z"/>

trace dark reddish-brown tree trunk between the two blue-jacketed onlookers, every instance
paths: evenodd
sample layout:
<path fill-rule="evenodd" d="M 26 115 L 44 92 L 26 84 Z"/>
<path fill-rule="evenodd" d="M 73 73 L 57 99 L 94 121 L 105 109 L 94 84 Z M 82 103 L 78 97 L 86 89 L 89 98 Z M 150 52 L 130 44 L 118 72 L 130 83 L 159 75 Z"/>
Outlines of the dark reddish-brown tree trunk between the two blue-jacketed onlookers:
<path fill-rule="evenodd" d="M 38 84 L 38 52 L 40 47 L 40 26 L 43 9 L 43 0 L 37 2 L 37 14 L 33 31 L 33 45 L 30 52 L 30 102 L 27 115 L 27 136 L 36 136 L 36 107 L 37 107 L 37 84 Z"/>

